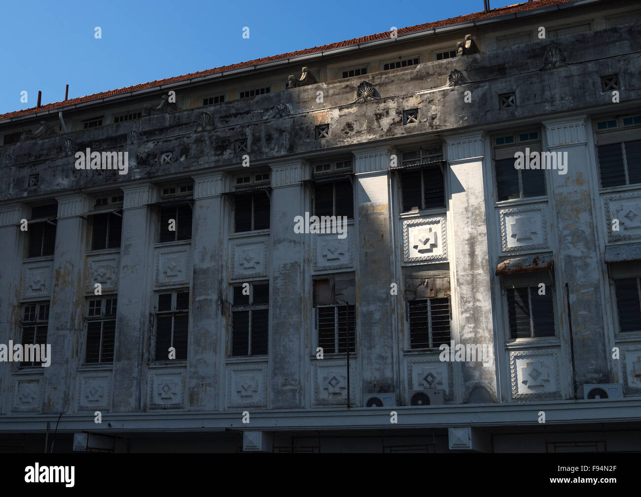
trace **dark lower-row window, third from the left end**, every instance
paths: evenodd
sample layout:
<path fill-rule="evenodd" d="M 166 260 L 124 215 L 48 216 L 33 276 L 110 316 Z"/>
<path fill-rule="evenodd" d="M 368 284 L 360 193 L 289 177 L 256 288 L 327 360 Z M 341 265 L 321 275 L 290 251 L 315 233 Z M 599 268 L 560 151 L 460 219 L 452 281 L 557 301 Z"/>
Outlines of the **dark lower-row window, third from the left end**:
<path fill-rule="evenodd" d="M 176 359 L 187 360 L 188 326 L 189 291 L 159 293 L 156 306 L 155 360 L 168 359 L 170 347 L 176 350 Z"/>

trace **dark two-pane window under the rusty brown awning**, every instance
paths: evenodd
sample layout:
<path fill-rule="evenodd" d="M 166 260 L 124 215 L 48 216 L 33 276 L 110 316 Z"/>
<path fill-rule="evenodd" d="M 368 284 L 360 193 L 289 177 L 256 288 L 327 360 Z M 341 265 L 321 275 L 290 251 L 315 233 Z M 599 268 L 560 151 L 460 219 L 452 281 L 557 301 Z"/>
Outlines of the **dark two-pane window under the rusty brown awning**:
<path fill-rule="evenodd" d="M 508 288 L 508 321 L 510 338 L 554 336 L 554 299 L 552 285 L 545 285 L 540 295 L 538 286 Z"/>

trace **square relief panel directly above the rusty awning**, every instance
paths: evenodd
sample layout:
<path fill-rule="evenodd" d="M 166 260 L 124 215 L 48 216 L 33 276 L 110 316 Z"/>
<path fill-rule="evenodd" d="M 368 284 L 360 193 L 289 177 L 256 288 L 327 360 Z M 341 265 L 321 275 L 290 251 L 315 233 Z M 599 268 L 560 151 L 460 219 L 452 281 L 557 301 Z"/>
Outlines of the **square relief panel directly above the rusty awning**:
<path fill-rule="evenodd" d="M 546 213 L 543 204 L 499 210 L 501 251 L 549 248 Z"/>

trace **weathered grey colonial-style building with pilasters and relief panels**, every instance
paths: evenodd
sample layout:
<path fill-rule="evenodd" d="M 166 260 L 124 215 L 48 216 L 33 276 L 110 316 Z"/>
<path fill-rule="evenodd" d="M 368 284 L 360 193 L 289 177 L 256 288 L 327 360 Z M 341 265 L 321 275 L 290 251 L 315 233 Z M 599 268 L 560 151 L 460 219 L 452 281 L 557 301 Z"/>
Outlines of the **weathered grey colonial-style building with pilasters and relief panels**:
<path fill-rule="evenodd" d="M 538 0 L 0 115 L 0 447 L 641 450 L 639 35 Z"/>

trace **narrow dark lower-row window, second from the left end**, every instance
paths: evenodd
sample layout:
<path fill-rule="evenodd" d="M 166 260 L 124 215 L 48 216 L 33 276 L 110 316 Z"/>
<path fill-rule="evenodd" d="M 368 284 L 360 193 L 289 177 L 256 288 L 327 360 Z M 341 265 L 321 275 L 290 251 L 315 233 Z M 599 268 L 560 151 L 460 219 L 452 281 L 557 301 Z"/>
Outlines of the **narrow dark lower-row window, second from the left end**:
<path fill-rule="evenodd" d="M 85 364 L 113 362 L 116 337 L 115 295 L 87 301 Z"/>

